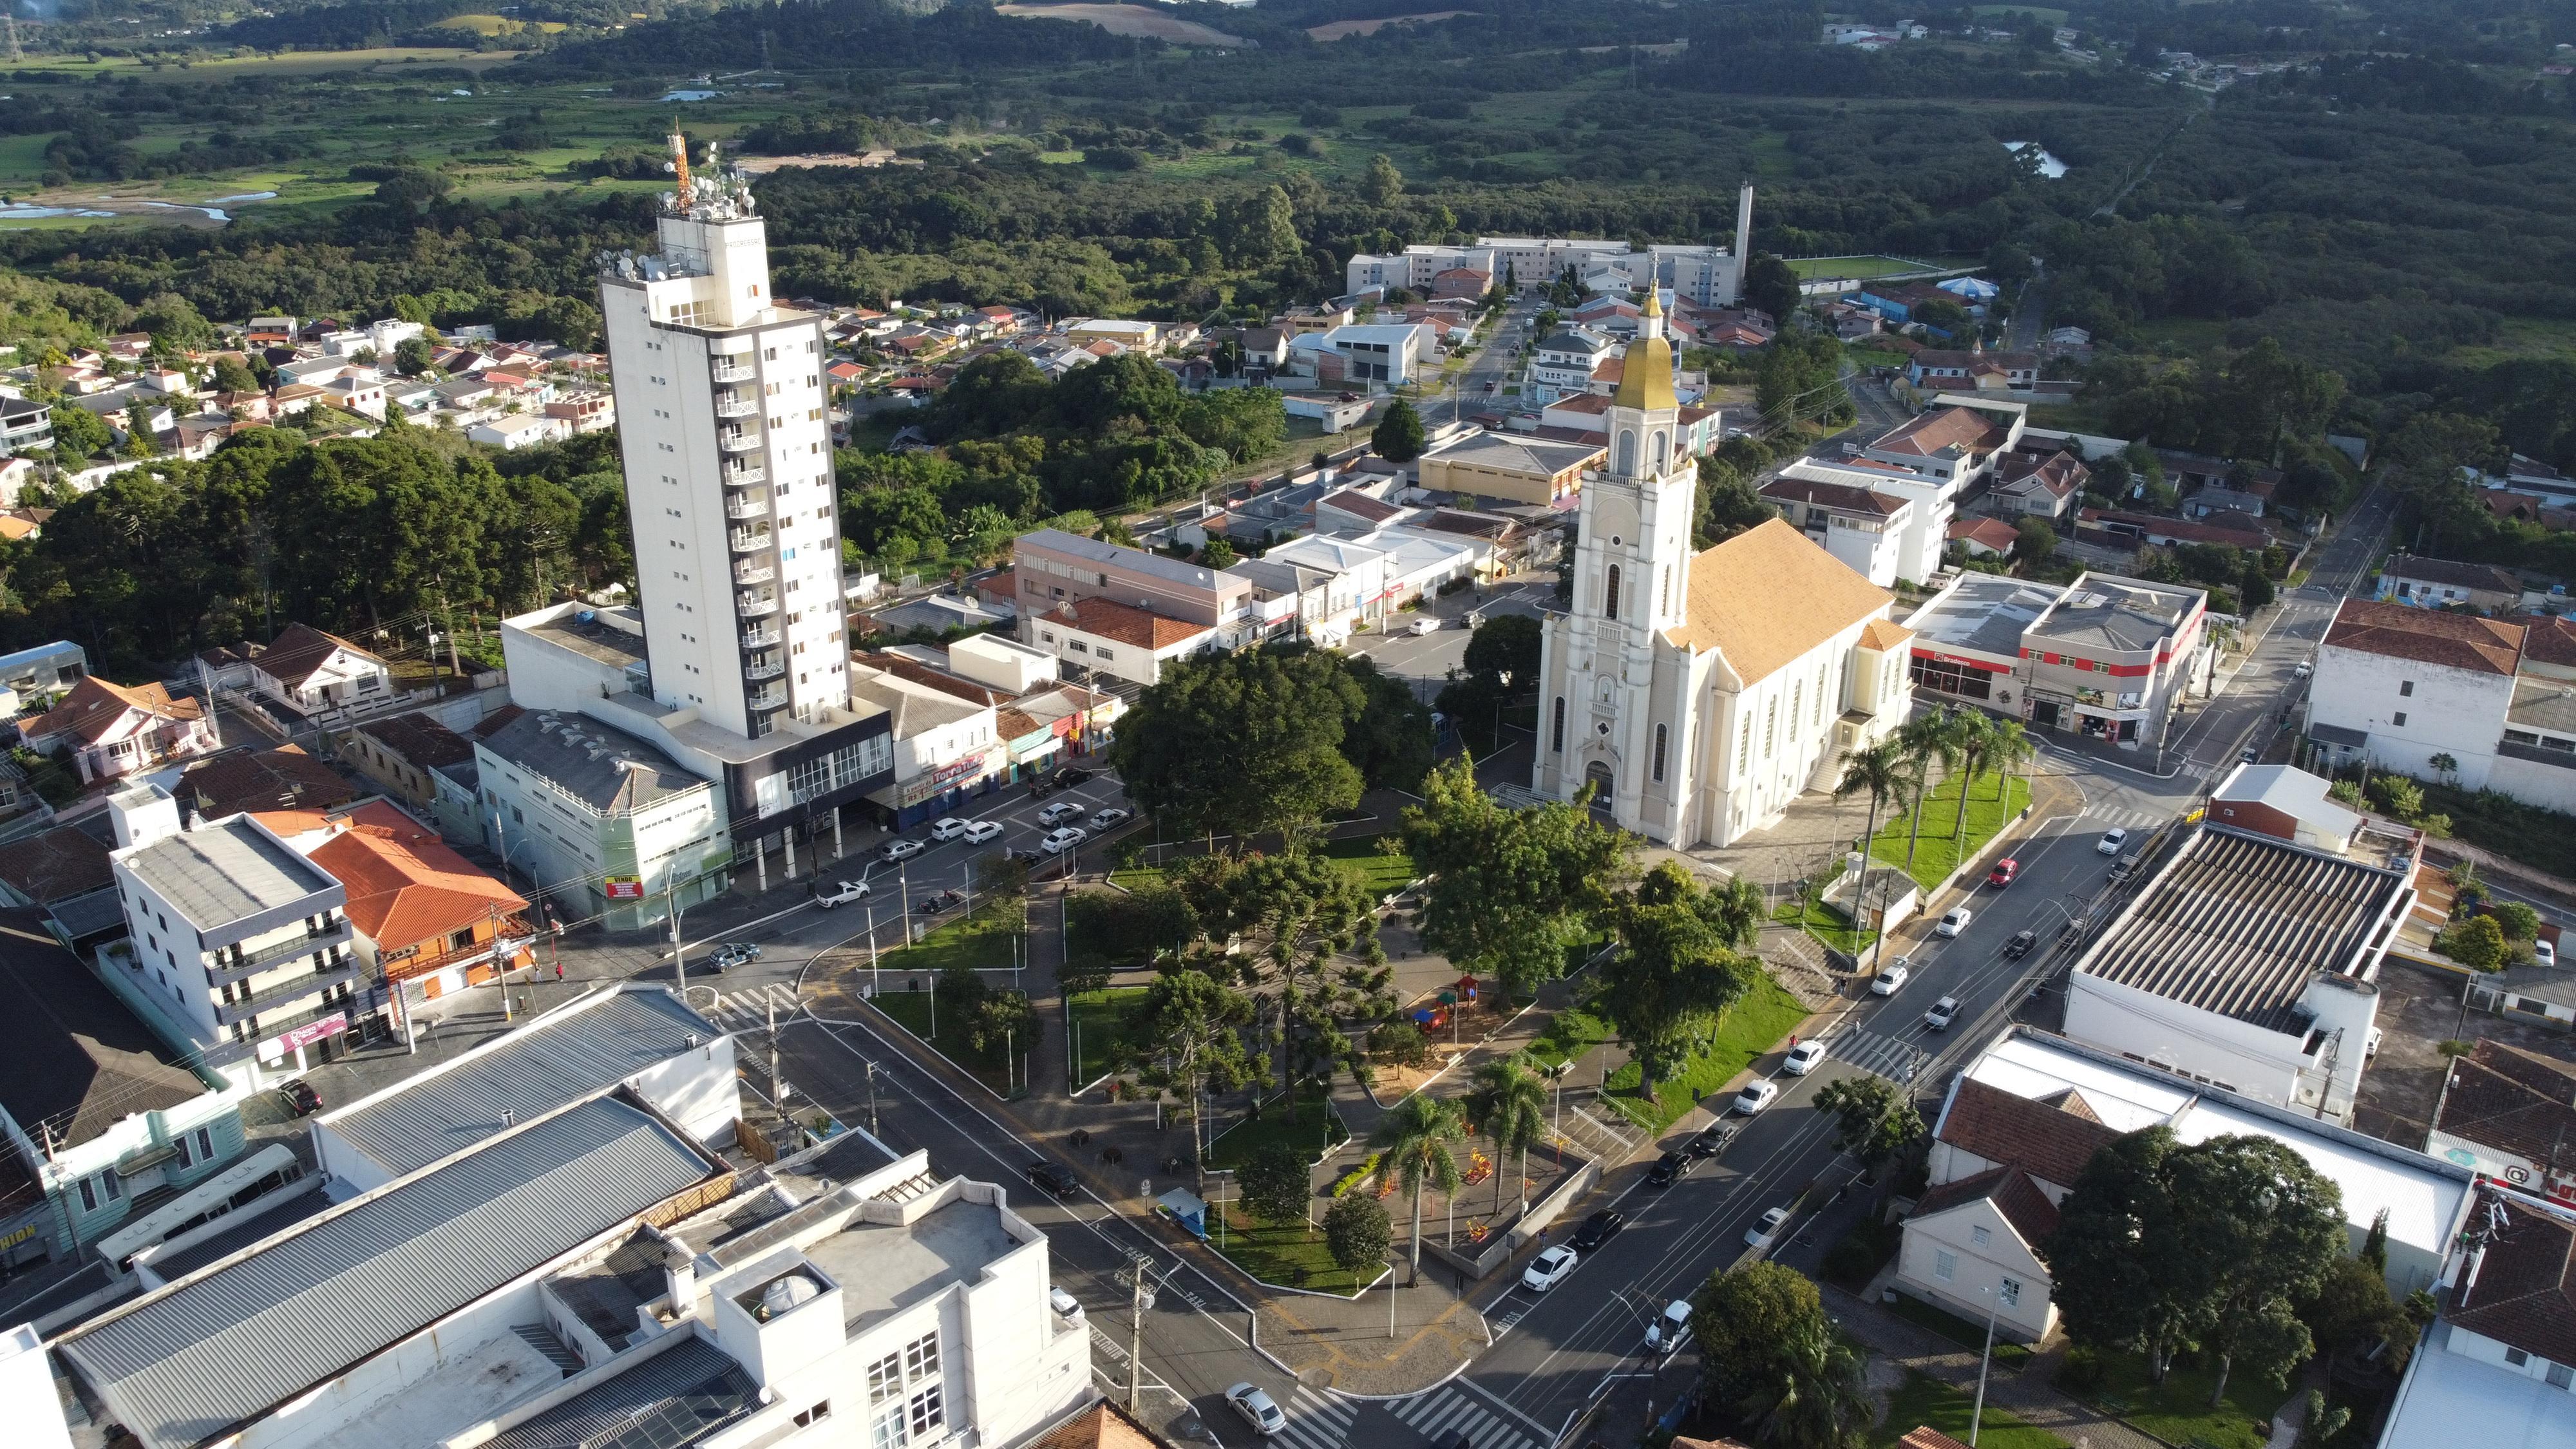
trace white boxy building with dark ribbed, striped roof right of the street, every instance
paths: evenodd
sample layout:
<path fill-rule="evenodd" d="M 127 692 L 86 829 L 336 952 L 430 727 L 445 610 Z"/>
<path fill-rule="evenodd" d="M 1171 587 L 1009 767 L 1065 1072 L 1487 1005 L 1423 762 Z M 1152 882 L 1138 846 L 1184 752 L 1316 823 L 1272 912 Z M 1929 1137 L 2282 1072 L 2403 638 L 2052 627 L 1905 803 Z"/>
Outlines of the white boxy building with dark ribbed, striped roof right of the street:
<path fill-rule="evenodd" d="M 2347 851 L 2195 825 L 2076 957 L 2066 1034 L 2254 1101 L 2352 1119 L 2380 959 L 2414 908 L 2421 838 Z"/>

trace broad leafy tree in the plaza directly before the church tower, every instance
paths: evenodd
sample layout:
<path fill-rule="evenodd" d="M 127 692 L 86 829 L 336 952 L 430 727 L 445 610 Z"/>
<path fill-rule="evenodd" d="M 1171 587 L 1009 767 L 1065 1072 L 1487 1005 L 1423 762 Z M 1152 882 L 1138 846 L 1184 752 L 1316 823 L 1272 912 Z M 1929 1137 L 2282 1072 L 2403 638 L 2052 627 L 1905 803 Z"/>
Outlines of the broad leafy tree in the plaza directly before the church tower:
<path fill-rule="evenodd" d="M 1414 918 L 1422 941 L 1512 995 L 1566 969 L 1636 856 L 1628 835 L 1574 804 L 1502 807 L 1466 758 L 1422 781 L 1404 846 L 1430 877 Z"/>

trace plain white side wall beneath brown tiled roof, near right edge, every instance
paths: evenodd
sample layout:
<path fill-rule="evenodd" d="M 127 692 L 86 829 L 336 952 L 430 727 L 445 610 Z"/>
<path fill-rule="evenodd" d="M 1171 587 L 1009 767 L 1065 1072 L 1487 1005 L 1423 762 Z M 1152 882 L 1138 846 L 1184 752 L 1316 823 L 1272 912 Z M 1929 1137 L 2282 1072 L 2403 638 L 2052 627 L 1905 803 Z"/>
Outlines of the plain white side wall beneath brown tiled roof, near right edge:
<path fill-rule="evenodd" d="M 2409 691 L 2411 686 L 2411 691 Z M 2316 650 L 2308 724 L 2370 735 L 2380 768 L 2434 779 L 2432 755 L 2460 761 L 2460 786 L 2483 789 L 2514 704 L 2514 678 L 2393 660 L 2339 645 Z M 2398 714 L 2406 717 L 2398 724 Z"/>

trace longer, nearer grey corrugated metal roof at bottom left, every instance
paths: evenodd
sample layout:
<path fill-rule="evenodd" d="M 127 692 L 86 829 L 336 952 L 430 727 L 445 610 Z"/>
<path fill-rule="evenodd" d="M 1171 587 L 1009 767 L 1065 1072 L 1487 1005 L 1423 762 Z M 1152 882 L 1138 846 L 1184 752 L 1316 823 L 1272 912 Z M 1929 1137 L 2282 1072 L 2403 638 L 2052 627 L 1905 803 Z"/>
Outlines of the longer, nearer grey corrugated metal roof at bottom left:
<path fill-rule="evenodd" d="M 144 1444 L 201 1444 L 708 1171 L 654 1116 L 618 1098 L 585 1101 L 57 1346 Z"/>

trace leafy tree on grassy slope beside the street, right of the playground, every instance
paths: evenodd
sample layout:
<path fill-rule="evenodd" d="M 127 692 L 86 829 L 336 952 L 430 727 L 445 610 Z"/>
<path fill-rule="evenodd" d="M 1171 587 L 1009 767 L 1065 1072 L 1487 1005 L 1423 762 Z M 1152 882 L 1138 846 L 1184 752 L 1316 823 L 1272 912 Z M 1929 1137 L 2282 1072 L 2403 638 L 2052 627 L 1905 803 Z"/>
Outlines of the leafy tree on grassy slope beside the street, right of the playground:
<path fill-rule="evenodd" d="M 1623 892 L 1613 920 L 1618 951 L 1600 967 L 1592 1008 L 1618 1029 L 1636 1057 L 1638 1091 L 1654 1101 L 1654 1083 L 1716 1029 L 1762 967 L 1726 946 L 1703 910 L 1703 890 L 1677 861 Z"/>

